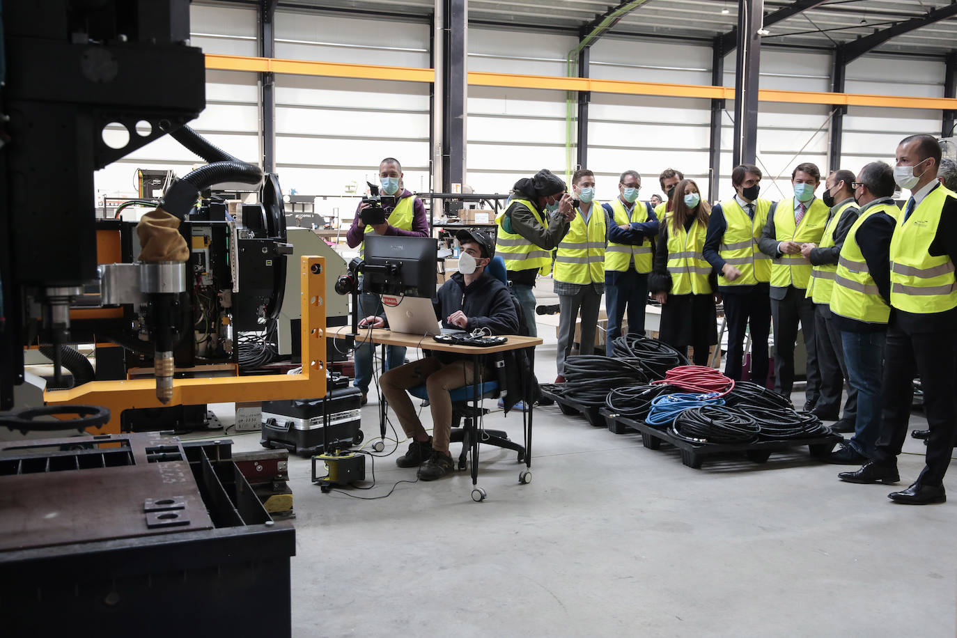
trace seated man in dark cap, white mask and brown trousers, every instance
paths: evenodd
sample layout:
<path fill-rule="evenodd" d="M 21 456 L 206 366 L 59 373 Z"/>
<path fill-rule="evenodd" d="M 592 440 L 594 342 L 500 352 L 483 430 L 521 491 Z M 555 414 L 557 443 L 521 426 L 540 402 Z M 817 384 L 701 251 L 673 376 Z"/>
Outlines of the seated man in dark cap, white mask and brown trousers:
<path fill-rule="evenodd" d="M 456 239 L 462 252 L 458 258 L 458 272 L 442 284 L 433 299 L 435 317 L 446 328 L 472 331 L 486 328 L 493 335 L 514 335 L 519 331 L 519 317 L 512 296 L 499 279 L 485 273 L 485 267 L 494 252 L 492 240 L 480 231 L 458 231 Z M 383 317 L 367 317 L 363 323 L 374 328 L 385 326 Z M 481 379 L 492 377 L 491 368 L 480 371 Z M 419 361 L 406 363 L 382 375 L 379 386 L 389 406 L 412 439 L 409 451 L 395 459 L 400 468 L 414 468 L 424 463 L 419 478 L 431 481 L 455 469 L 449 452 L 452 431 L 451 390 L 470 385 L 475 378 L 471 357 L 450 352 L 428 352 Z M 412 400 L 406 392 L 410 387 L 425 384 L 432 410 L 433 436 L 430 437 L 419 421 Z"/>

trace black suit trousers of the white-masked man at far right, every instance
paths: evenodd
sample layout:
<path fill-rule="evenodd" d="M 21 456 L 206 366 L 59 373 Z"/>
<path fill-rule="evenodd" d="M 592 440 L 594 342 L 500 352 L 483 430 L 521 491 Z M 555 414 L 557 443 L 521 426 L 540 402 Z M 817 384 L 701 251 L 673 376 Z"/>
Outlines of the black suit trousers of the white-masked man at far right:
<path fill-rule="evenodd" d="M 904 331 L 891 313 L 884 348 L 883 406 L 874 460 L 895 465 L 907 437 L 914 377 L 924 388 L 924 415 L 930 428 L 922 485 L 941 485 L 957 433 L 957 331 Z"/>

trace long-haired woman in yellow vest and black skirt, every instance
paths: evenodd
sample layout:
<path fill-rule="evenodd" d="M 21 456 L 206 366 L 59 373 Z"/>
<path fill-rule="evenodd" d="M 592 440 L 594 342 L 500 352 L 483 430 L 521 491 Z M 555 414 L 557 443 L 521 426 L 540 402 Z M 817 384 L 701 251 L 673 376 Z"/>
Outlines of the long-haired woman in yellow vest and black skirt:
<path fill-rule="evenodd" d="M 672 202 L 661 220 L 648 289 L 661 304 L 660 340 L 685 353 L 692 346 L 694 363 L 707 365 L 708 350 L 718 342 L 717 280 L 702 254 L 711 207 L 687 179 L 679 182 Z"/>

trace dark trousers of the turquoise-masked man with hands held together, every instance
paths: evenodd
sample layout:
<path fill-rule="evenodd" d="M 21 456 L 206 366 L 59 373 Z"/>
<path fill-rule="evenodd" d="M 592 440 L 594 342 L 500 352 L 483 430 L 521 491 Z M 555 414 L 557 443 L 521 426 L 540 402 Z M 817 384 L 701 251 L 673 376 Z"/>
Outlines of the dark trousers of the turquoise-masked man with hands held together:
<path fill-rule="evenodd" d="M 814 302 L 804 297 L 803 288 L 788 286 L 783 291 L 771 290 L 771 319 L 774 324 L 774 391 L 790 399 L 794 386 L 794 344 L 797 342 L 797 324 L 801 324 L 804 347 L 808 351 L 808 389 L 805 397 L 814 403 L 821 385 L 817 369 L 817 347 L 814 343 Z M 784 294 L 783 298 L 780 297 Z"/>

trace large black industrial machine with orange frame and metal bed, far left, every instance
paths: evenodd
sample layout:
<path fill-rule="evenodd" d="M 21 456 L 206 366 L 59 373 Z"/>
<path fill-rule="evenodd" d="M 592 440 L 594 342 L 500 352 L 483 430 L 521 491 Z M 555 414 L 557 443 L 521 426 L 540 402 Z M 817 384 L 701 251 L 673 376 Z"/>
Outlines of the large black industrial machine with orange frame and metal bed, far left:
<path fill-rule="evenodd" d="M 0 22 L 0 425 L 96 434 L 0 446 L 4 629 L 166 635 L 145 619 L 168 609 L 189 633 L 289 635 L 295 533 L 229 442 L 117 433 L 128 410 L 323 397 L 325 260 L 296 264 L 300 372 L 252 374 L 278 349 L 282 195 L 185 126 L 205 106 L 189 0 L 4 2 Z M 103 139 L 116 124 L 119 148 Z M 94 171 L 167 134 L 207 164 L 151 183 L 162 199 L 135 227 L 98 226 Z M 211 190 L 235 182 L 259 202 L 230 210 Z M 14 402 L 25 348 L 48 348 L 59 377 L 80 341 L 119 344 L 102 360 L 120 372 Z"/>

